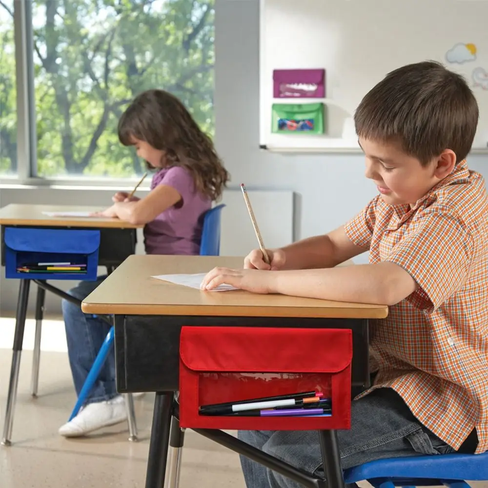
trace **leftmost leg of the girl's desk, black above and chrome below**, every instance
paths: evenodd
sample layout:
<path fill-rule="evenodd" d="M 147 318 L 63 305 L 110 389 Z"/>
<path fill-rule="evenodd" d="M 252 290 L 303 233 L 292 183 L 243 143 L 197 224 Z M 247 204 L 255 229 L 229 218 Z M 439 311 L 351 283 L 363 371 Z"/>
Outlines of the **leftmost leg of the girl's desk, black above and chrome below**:
<path fill-rule="evenodd" d="M 2 446 L 10 446 L 12 442 L 12 427 L 14 424 L 15 399 L 17 397 L 17 385 L 19 383 L 20 354 L 24 340 L 25 315 L 29 300 L 30 280 L 20 280 L 19 299 L 17 301 L 17 313 L 15 317 L 14 346 L 12 347 L 12 367 L 10 369 L 10 383 L 8 385 L 7 407 L 5 409 L 5 424 L 3 425 Z"/>

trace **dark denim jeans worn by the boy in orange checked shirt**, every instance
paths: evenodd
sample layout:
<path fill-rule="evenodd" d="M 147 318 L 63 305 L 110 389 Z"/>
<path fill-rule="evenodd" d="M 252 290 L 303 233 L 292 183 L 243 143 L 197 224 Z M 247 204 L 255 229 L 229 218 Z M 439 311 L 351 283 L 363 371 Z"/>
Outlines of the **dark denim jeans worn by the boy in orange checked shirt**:
<path fill-rule="evenodd" d="M 454 452 L 421 425 L 402 398 L 390 388 L 379 388 L 351 405 L 351 429 L 338 430 L 342 468 L 382 458 Z M 239 431 L 239 439 L 285 462 L 324 476 L 316 431 Z M 299 488 L 285 476 L 241 456 L 247 488 Z M 355 486 L 355 484 L 350 485 Z"/>

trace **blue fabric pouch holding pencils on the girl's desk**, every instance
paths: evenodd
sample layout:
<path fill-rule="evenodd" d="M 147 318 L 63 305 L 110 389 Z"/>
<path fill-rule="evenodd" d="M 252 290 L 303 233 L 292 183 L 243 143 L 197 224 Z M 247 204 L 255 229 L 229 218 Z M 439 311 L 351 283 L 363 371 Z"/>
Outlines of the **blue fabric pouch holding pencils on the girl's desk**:
<path fill-rule="evenodd" d="M 95 280 L 99 230 L 7 227 L 4 233 L 5 277 L 29 280 Z M 18 269 L 39 263 L 81 264 L 80 271 Z M 58 267 L 58 266 L 50 266 Z"/>

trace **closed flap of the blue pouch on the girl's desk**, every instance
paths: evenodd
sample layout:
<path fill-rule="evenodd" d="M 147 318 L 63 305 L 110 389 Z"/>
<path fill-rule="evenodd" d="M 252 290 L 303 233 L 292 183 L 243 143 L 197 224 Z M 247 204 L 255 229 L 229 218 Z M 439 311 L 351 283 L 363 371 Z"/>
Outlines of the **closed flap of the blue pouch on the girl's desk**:
<path fill-rule="evenodd" d="M 100 231 L 7 227 L 4 240 L 21 252 L 92 254 L 100 247 Z"/>

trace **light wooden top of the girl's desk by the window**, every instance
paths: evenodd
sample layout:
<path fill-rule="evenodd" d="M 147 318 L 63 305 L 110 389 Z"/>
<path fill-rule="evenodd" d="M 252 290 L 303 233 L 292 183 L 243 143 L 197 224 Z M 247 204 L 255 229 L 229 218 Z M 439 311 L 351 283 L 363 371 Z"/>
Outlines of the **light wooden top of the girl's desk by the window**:
<path fill-rule="evenodd" d="M 101 207 L 74 205 L 36 205 L 10 203 L 0 208 L 1 225 L 39 225 L 42 227 L 98 227 L 134 229 L 133 225 L 107 217 L 50 217 L 42 212 L 97 212 Z"/>

